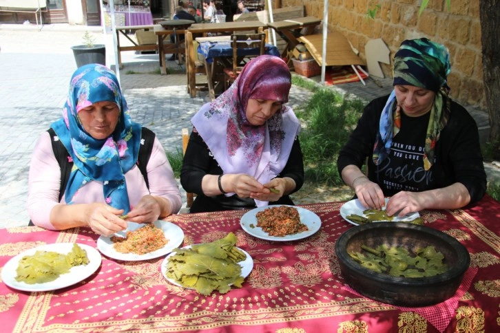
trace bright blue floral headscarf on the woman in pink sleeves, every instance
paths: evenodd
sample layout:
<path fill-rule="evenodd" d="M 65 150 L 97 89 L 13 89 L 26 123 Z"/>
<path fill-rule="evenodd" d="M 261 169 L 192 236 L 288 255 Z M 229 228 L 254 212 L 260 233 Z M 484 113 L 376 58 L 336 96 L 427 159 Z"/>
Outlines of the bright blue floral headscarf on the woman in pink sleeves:
<path fill-rule="evenodd" d="M 98 140 L 83 129 L 78 113 L 98 102 L 113 102 L 120 108 L 118 124 L 109 138 Z M 141 125 L 130 119 L 114 72 L 103 65 L 79 67 L 70 81 L 63 118 L 52 129 L 70 153 L 74 164 L 65 189 L 65 201 L 73 203 L 79 189 L 92 180 L 103 182 L 105 201 L 130 211 L 125 173 L 137 162 Z"/>

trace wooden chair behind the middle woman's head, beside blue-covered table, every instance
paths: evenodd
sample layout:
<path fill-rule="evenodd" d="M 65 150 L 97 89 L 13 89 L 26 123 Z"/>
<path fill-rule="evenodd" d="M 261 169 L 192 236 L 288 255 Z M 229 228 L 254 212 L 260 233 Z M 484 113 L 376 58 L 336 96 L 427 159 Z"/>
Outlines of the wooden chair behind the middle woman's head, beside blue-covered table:
<path fill-rule="evenodd" d="M 231 34 L 231 43 L 233 47 L 233 67 L 226 67 L 224 69 L 224 89 L 227 89 L 236 80 L 243 66 L 247 63 L 245 59 L 264 54 L 266 34 L 264 32 L 259 34 Z M 238 50 L 249 48 L 255 48 L 256 52 L 247 56 L 238 56 Z"/>

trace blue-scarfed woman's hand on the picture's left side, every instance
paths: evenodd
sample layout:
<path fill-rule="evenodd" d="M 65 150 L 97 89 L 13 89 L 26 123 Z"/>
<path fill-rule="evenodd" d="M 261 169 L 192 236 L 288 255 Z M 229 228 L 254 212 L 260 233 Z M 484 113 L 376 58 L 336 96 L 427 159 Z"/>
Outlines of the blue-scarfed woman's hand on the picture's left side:
<path fill-rule="evenodd" d="M 127 228 L 127 222 L 120 218 L 122 214 L 123 209 L 116 209 L 107 204 L 89 204 L 87 224 L 94 233 L 107 237 Z"/>

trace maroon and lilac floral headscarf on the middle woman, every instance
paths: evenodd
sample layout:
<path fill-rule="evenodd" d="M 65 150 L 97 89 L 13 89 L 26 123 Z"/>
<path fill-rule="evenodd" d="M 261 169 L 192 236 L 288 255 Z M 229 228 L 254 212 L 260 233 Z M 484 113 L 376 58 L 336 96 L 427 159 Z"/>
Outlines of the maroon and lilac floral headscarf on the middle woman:
<path fill-rule="evenodd" d="M 249 99 L 288 102 L 291 74 L 277 56 L 258 56 L 227 91 L 191 119 L 224 173 L 247 173 L 265 184 L 287 164 L 300 122 L 285 105 L 262 126 L 249 123 Z M 231 195 L 229 193 L 228 195 Z M 258 202 L 264 206 L 267 202 Z"/>

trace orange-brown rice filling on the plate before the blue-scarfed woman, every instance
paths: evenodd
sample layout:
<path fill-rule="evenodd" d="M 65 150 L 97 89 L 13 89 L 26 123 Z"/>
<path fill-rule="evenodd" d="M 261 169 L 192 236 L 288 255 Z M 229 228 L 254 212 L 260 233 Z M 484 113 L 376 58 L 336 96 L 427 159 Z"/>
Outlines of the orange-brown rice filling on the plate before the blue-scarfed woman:
<path fill-rule="evenodd" d="M 111 237 L 114 249 L 119 253 L 135 253 L 145 255 L 163 248 L 169 241 L 165 238 L 163 230 L 154 224 L 146 224 L 142 228 L 128 231 L 127 237 Z"/>

